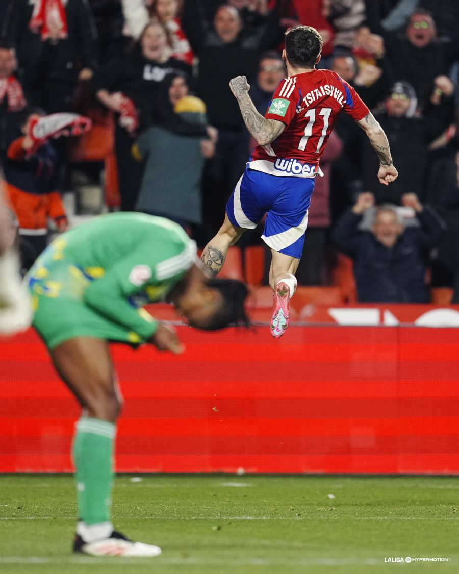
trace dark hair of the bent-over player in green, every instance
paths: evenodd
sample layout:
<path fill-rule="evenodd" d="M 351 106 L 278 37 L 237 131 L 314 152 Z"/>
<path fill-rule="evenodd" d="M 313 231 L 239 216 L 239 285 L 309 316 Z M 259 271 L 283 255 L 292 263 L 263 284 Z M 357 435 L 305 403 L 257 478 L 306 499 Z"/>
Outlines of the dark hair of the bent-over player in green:
<path fill-rule="evenodd" d="M 206 281 L 206 285 L 219 290 L 223 298 L 223 305 L 204 327 L 206 331 L 217 331 L 230 325 L 249 326 L 250 321 L 244 308 L 248 289 L 242 281 L 212 277 Z"/>

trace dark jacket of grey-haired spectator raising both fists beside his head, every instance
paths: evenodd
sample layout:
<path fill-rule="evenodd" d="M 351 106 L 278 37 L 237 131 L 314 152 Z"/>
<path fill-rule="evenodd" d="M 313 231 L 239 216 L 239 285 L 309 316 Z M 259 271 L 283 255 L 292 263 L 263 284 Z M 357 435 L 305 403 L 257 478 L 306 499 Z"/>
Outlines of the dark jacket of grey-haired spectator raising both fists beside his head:
<path fill-rule="evenodd" d="M 417 214 L 421 227 L 409 227 L 391 249 L 369 231 L 359 231 L 361 215 L 346 211 L 337 222 L 332 239 L 354 260 L 357 300 L 360 303 L 426 303 L 426 251 L 445 230 L 437 213 L 425 206 Z"/>

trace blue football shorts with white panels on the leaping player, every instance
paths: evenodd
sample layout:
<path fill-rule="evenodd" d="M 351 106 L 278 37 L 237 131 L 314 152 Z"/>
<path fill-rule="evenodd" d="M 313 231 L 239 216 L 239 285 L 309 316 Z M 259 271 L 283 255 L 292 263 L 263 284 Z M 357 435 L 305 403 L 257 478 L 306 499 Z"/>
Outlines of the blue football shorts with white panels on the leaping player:
<path fill-rule="evenodd" d="M 314 177 L 273 176 L 246 168 L 226 205 L 235 227 L 255 229 L 266 213 L 263 241 L 301 259 Z"/>

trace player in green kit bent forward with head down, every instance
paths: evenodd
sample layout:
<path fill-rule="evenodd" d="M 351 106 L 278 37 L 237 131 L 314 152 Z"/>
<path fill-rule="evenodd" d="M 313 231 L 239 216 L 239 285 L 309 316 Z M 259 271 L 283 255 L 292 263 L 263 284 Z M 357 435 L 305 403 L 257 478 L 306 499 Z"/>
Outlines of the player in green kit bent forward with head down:
<path fill-rule="evenodd" d="M 26 278 L 36 309 L 33 325 L 83 408 L 73 442 L 79 512 L 73 549 L 94 556 L 157 556 L 158 546 L 128 540 L 110 521 L 121 398 L 108 342 L 152 343 L 180 353 L 176 333 L 142 305 L 168 300 L 193 327 L 219 329 L 247 324 L 247 288 L 207 277 L 195 242 L 176 223 L 133 213 L 103 215 L 65 232 Z"/>

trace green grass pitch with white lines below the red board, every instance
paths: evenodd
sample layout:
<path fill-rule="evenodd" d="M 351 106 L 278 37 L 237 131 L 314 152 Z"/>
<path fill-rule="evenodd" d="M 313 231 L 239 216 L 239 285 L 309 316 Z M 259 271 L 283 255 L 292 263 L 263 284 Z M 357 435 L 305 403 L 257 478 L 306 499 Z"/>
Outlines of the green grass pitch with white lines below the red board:
<path fill-rule="evenodd" d="M 127 536 L 160 545 L 161 556 L 99 559 L 71 553 L 72 477 L 0 475 L 0 572 L 459 572 L 459 477 L 132 479 L 116 477 L 113 521 Z M 388 561 L 396 557 L 413 561 Z"/>

